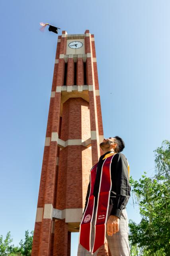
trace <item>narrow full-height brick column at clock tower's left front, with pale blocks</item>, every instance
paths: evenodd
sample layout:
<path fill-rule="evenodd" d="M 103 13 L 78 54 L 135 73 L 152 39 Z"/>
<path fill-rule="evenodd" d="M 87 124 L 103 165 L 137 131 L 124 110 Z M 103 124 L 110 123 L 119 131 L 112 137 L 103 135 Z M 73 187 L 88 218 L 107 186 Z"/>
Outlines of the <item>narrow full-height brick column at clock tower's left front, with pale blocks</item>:
<path fill-rule="evenodd" d="M 51 133 L 48 140 L 49 154 L 47 162 L 47 174 L 45 177 L 45 191 L 43 202 L 43 216 L 41 222 L 41 240 L 39 242 L 39 256 L 50 256 L 51 254 L 51 233 L 52 233 L 52 218 L 53 218 L 53 204 L 56 180 L 56 166 L 57 166 L 57 139 L 59 134 L 60 121 L 60 106 L 61 106 L 61 86 L 64 81 L 64 52 L 66 50 L 66 38 L 61 37 L 61 44 L 59 48 L 59 63 L 57 66 L 56 92 L 54 97 L 53 114 L 51 116 Z M 56 54 L 57 55 L 57 54 Z"/>

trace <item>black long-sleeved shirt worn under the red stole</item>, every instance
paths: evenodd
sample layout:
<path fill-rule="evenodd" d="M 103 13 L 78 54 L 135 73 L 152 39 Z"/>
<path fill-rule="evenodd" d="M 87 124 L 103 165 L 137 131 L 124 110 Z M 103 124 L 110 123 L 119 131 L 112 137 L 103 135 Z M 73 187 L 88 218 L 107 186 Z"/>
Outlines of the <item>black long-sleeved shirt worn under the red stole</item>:
<path fill-rule="evenodd" d="M 96 173 L 96 180 L 94 184 L 94 196 L 95 196 L 95 206 L 97 205 L 98 200 L 98 192 L 99 192 L 99 184 L 100 184 L 100 175 L 102 170 L 102 165 L 104 163 L 104 156 L 111 153 L 112 151 L 107 152 L 106 154 L 100 156 L 98 167 L 97 167 L 97 173 Z M 110 193 L 110 202 L 111 200 L 113 202 L 113 208 L 111 210 L 110 215 L 115 215 L 117 217 L 121 217 L 121 211 L 126 207 L 127 202 L 131 196 L 131 186 L 129 184 L 129 176 L 128 176 L 128 162 L 126 157 L 121 154 L 117 153 L 113 157 L 112 163 L 111 163 L 111 193 Z M 88 184 L 88 190 L 86 194 L 86 203 L 84 212 L 87 207 L 88 197 L 90 193 L 90 182 Z"/>

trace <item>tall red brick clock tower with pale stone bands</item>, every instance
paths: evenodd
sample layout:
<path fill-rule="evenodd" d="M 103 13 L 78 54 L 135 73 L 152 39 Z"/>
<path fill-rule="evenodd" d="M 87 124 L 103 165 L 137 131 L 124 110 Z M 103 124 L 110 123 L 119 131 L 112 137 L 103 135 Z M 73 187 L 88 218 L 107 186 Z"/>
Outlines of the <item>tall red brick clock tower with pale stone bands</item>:
<path fill-rule="evenodd" d="M 58 37 L 31 256 L 70 256 L 90 169 L 100 157 L 102 114 L 94 35 Z M 107 246 L 100 250 L 107 255 Z"/>

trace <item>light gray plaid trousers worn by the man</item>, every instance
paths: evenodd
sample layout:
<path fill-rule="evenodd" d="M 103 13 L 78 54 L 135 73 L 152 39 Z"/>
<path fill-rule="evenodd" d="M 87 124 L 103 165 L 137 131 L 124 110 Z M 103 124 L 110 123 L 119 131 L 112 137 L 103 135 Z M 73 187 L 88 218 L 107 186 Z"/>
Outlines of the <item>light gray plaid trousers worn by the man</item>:
<path fill-rule="evenodd" d="M 110 216 L 110 212 L 112 209 L 112 205 L 109 205 L 107 220 Z M 94 215 L 92 220 L 92 233 L 91 233 L 91 251 L 94 243 L 94 223 L 96 216 L 96 207 L 94 208 Z M 119 232 L 113 234 L 113 236 L 107 235 L 107 225 L 106 225 L 106 238 L 107 244 L 109 246 L 111 256 L 130 256 L 130 248 L 129 248 L 129 239 L 128 239 L 128 218 L 126 208 L 121 212 L 121 218 L 119 221 Z M 100 248 L 99 248 L 100 249 Z M 86 250 L 81 244 L 78 244 L 78 252 L 77 256 L 97 256 L 99 249 L 91 254 L 88 250 Z"/>

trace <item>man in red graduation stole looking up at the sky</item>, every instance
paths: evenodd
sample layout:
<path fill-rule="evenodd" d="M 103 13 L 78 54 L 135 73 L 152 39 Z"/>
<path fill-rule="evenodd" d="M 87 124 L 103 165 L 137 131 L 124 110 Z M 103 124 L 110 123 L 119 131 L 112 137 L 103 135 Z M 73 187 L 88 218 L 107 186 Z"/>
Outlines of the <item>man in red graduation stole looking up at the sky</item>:
<path fill-rule="evenodd" d="M 129 164 L 119 136 L 100 143 L 103 155 L 90 171 L 80 223 L 77 256 L 97 256 L 107 240 L 111 256 L 130 256 L 126 205 L 130 198 Z"/>

